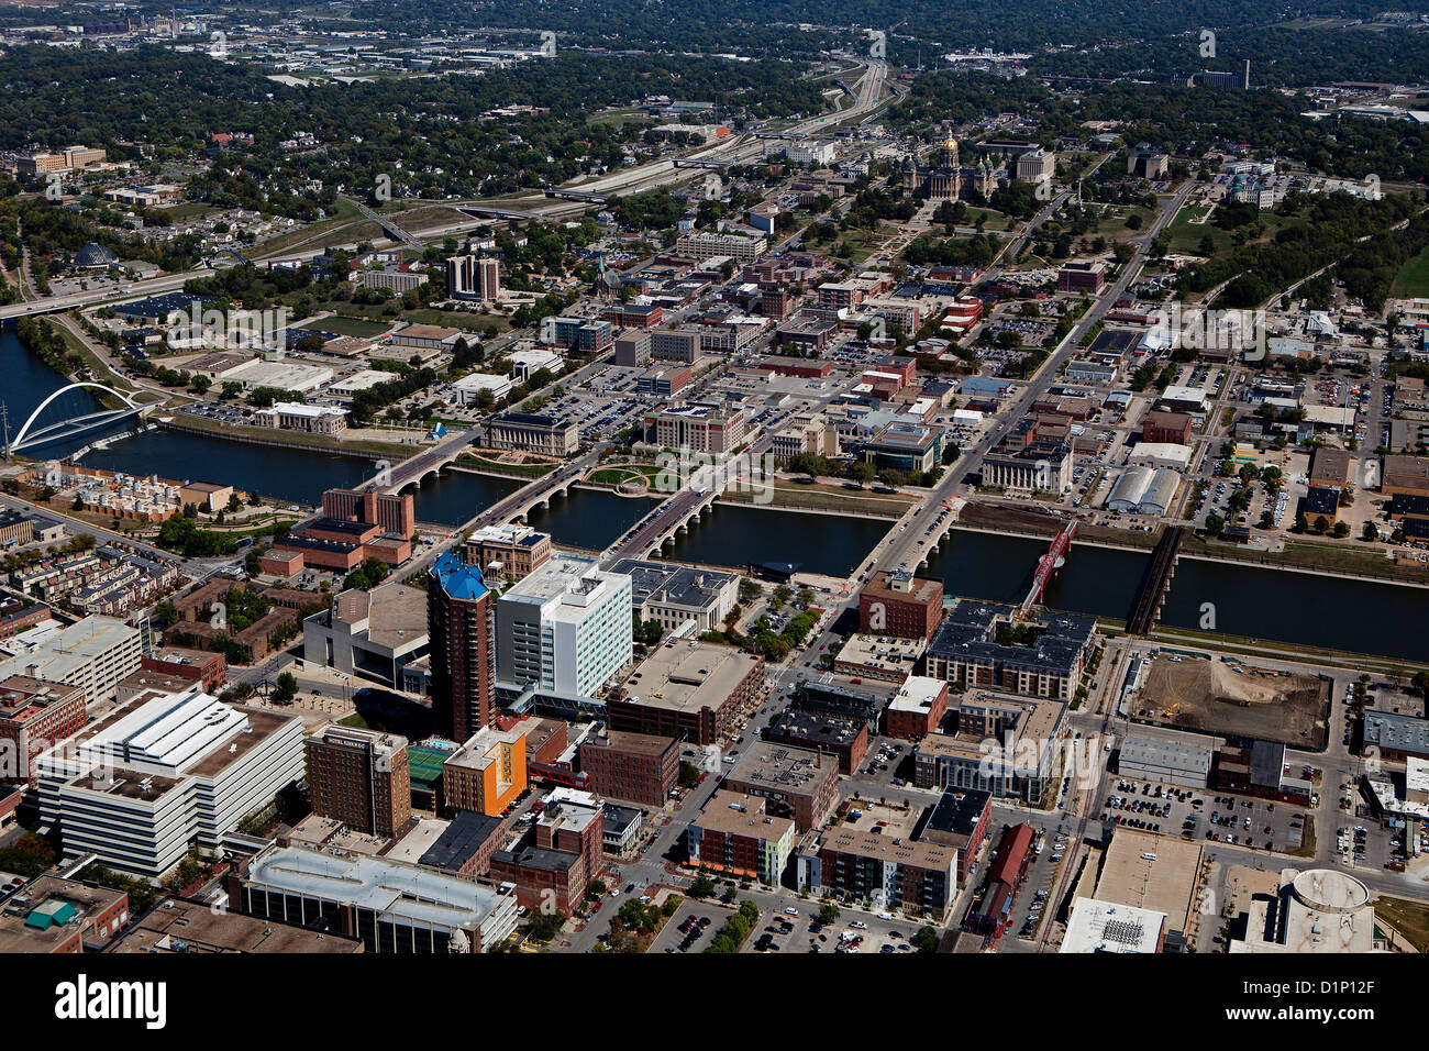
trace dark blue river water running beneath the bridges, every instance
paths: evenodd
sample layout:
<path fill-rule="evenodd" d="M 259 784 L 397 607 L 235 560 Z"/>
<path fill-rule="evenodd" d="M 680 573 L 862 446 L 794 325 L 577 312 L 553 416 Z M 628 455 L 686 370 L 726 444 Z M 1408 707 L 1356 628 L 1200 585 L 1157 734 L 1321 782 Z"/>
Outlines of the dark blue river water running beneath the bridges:
<path fill-rule="evenodd" d="M 29 355 L 10 327 L 0 327 L 0 400 L 10 433 L 64 380 Z M 57 399 L 39 425 L 94 412 L 91 392 Z M 53 413 L 53 415 L 51 415 Z M 133 475 L 204 480 L 257 490 L 294 503 L 316 505 L 324 489 L 372 478 L 374 463 L 312 449 L 227 442 L 173 430 L 90 433 L 27 450 L 33 458 L 66 456 L 97 438 L 81 462 Z M 447 472 L 416 495 L 422 522 L 457 526 L 523 485 L 517 478 Z M 572 489 L 527 522 L 562 545 L 602 551 L 652 506 L 596 489 Z M 806 515 L 716 503 L 666 555 L 679 562 L 743 568 L 750 562 L 797 562 L 805 571 L 847 575 L 889 529 L 879 519 Z M 943 579 L 949 596 L 1020 602 L 1045 541 L 955 531 L 935 553 L 927 573 Z M 1049 606 L 1125 619 L 1146 571 L 1147 555 L 1073 545 L 1067 563 L 1046 591 Z M 1208 622 L 1208 615 L 1213 618 Z M 1166 599 L 1163 623 L 1212 626 L 1230 635 L 1328 646 L 1409 659 L 1429 658 L 1429 589 L 1313 576 L 1276 569 L 1182 559 Z"/>

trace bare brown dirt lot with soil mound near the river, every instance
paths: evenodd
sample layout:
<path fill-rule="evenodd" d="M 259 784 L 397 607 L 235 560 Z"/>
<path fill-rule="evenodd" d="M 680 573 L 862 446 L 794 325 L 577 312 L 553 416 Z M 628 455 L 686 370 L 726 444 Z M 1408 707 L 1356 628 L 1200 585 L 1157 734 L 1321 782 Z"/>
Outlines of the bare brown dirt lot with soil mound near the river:
<path fill-rule="evenodd" d="M 1326 684 L 1313 675 L 1258 672 L 1246 663 L 1162 653 L 1152 662 L 1137 714 L 1165 726 L 1323 748 Z"/>

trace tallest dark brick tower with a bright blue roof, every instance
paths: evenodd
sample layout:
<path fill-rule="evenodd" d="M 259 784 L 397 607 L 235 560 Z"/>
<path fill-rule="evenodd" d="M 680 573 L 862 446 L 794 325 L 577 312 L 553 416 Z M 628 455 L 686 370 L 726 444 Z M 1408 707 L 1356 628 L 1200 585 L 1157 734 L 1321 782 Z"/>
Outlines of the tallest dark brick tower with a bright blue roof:
<path fill-rule="evenodd" d="M 454 552 L 433 563 L 427 586 L 427 636 L 432 655 L 432 714 L 437 732 L 467 741 L 494 725 L 492 679 L 496 678 L 494 603 L 482 571 Z"/>

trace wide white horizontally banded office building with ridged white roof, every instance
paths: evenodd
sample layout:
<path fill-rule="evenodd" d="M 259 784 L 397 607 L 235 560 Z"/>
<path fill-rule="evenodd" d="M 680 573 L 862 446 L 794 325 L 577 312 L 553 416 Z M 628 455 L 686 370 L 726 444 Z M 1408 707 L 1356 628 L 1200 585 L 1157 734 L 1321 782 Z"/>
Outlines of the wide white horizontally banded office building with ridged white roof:
<path fill-rule="evenodd" d="M 303 721 L 220 704 L 200 684 L 144 691 L 40 755 L 36 774 L 40 827 L 64 857 L 160 877 L 303 776 Z"/>

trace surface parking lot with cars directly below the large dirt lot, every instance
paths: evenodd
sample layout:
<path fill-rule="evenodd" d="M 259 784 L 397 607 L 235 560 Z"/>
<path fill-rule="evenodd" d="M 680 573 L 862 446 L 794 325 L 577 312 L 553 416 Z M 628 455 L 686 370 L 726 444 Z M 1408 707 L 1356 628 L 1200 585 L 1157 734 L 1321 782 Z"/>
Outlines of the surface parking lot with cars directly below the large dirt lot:
<path fill-rule="evenodd" d="M 1102 821 L 1289 854 L 1300 848 L 1305 812 L 1293 804 L 1119 778 L 1102 801 Z"/>

